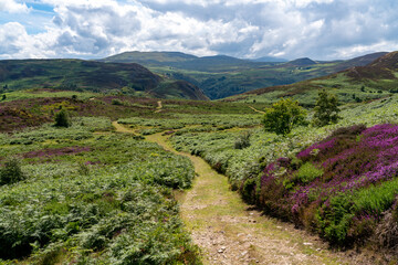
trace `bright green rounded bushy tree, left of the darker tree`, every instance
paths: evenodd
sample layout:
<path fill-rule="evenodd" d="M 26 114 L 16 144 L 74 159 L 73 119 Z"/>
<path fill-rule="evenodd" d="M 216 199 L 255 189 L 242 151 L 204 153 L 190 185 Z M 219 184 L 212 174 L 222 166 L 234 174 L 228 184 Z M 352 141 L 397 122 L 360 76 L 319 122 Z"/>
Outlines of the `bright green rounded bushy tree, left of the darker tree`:
<path fill-rule="evenodd" d="M 281 99 L 266 108 L 263 117 L 265 130 L 276 135 L 287 135 L 295 125 L 305 124 L 306 112 L 297 100 Z"/>

